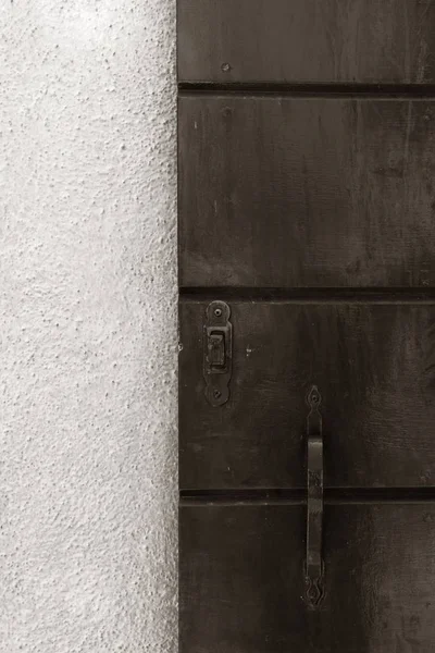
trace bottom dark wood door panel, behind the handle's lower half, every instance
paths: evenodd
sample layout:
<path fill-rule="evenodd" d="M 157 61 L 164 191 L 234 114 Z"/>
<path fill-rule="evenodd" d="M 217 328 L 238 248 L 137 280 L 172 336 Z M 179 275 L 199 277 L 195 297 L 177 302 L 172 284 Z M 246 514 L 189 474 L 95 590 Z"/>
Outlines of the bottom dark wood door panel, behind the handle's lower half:
<path fill-rule="evenodd" d="M 326 505 L 315 612 L 303 538 L 303 506 L 182 507 L 181 653 L 433 650 L 433 504 Z"/>

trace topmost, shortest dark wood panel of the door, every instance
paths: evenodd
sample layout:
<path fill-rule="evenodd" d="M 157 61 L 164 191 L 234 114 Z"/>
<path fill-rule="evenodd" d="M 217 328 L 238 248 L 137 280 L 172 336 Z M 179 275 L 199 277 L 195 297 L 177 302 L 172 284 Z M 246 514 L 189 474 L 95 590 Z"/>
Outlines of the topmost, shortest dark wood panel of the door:
<path fill-rule="evenodd" d="M 178 0 L 181 82 L 435 82 L 431 0 Z"/>

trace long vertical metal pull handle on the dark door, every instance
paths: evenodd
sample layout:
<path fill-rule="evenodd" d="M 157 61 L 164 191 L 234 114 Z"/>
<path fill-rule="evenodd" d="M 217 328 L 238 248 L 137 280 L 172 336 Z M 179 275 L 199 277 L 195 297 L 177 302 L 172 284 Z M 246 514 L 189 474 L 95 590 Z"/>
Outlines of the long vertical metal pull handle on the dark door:
<path fill-rule="evenodd" d="M 324 595 L 323 540 L 323 434 L 319 407 L 322 396 L 313 385 L 307 397 L 307 559 L 306 597 L 316 607 Z"/>

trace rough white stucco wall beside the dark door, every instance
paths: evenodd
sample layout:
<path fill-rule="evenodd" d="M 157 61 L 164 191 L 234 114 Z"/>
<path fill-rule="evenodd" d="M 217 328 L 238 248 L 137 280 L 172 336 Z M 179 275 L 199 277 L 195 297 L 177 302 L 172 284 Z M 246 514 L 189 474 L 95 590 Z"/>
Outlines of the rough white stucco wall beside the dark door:
<path fill-rule="evenodd" d="M 175 1 L 0 20 L 0 651 L 174 653 Z"/>

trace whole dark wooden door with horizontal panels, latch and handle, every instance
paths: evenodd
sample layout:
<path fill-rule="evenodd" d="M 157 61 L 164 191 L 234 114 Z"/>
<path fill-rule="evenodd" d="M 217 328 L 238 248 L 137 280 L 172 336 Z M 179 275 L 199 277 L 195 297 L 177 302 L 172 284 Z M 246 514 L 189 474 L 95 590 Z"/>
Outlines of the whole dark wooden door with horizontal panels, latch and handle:
<path fill-rule="evenodd" d="M 435 3 L 178 0 L 181 653 L 435 651 Z"/>

